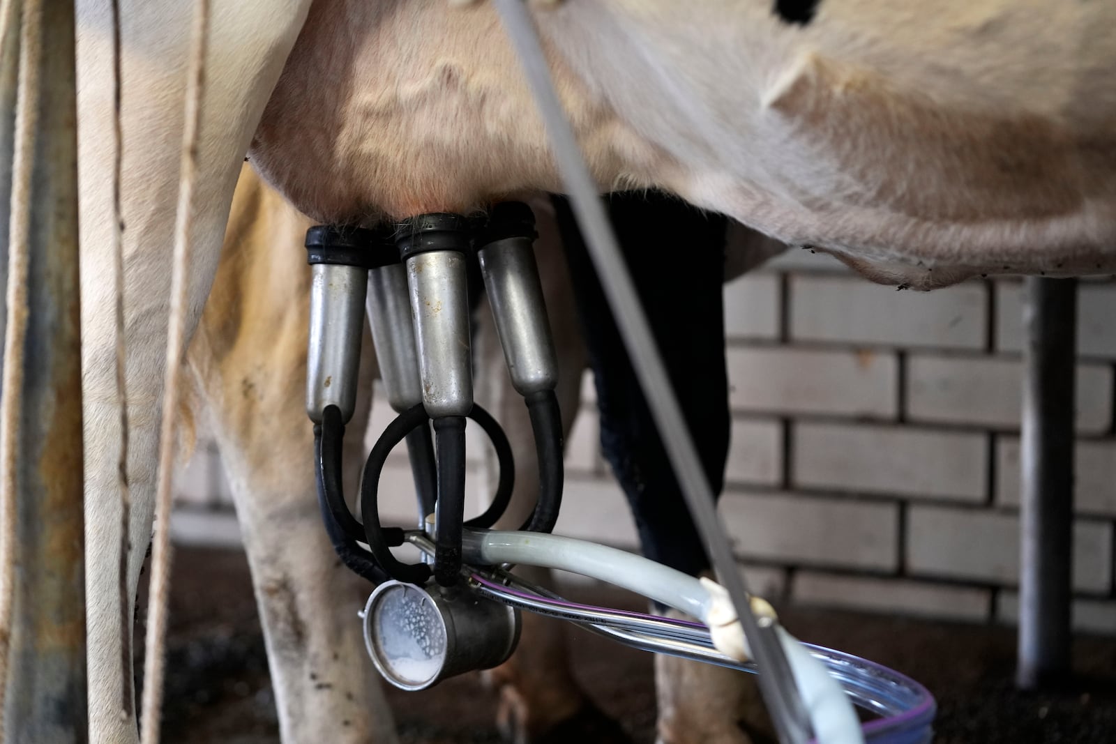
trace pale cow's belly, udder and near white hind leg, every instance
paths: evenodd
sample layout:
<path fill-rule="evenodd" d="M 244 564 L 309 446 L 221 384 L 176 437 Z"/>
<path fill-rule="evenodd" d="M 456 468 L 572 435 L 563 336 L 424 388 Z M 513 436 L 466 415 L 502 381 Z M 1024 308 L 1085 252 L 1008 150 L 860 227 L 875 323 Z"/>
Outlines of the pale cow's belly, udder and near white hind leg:
<path fill-rule="evenodd" d="M 152 520 L 191 7 L 121 7 L 134 591 Z M 569 0 L 537 12 L 603 189 L 658 185 L 921 288 L 984 272 L 1113 270 L 1116 6 L 776 8 L 783 15 L 769 0 Z M 116 713 L 128 631 L 103 583 L 121 544 L 105 258 L 109 9 L 78 1 L 90 713 L 94 741 L 131 741 L 134 718 Z M 560 190 L 484 3 L 213 0 L 210 29 L 191 330 L 246 153 L 318 221 L 463 212 Z"/>

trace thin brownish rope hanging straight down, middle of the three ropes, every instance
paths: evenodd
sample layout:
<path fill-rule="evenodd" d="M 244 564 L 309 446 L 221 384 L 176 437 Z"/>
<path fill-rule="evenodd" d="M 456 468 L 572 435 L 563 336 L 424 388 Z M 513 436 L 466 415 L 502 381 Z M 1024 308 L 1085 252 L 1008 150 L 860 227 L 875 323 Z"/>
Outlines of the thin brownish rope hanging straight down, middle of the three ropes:
<path fill-rule="evenodd" d="M 132 545 L 132 494 L 128 490 L 128 395 L 127 355 L 124 326 L 124 209 L 121 200 L 124 170 L 124 131 L 121 120 L 123 76 L 121 67 L 121 3 L 113 0 L 113 274 L 116 281 L 116 403 L 119 406 L 121 451 L 117 484 L 121 493 L 121 560 L 117 591 L 121 622 L 121 721 L 127 721 L 135 706 L 132 671 L 132 612 L 129 611 L 128 558 Z"/>

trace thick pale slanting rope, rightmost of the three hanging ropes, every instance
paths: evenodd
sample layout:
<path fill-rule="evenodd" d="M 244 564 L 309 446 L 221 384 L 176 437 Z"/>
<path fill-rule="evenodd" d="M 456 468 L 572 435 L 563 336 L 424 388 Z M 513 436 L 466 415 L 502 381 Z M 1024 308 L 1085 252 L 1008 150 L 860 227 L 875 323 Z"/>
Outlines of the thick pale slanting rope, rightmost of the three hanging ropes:
<path fill-rule="evenodd" d="M 174 225 L 174 258 L 171 274 L 171 316 L 166 329 L 166 370 L 163 388 L 163 421 L 160 433 L 158 490 L 155 497 L 155 538 L 152 549 L 151 589 L 147 602 L 147 637 L 144 646 L 144 696 L 141 722 L 142 744 L 158 744 L 163 707 L 167 599 L 171 587 L 171 476 L 175 454 L 175 410 L 186 335 L 186 301 L 190 277 L 190 228 L 193 218 L 194 181 L 198 175 L 198 141 L 201 128 L 201 97 L 205 79 L 205 37 L 209 31 L 209 0 L 198 0 L 186 81 L 185 126 L 179 174 L 179 206 Z"/>

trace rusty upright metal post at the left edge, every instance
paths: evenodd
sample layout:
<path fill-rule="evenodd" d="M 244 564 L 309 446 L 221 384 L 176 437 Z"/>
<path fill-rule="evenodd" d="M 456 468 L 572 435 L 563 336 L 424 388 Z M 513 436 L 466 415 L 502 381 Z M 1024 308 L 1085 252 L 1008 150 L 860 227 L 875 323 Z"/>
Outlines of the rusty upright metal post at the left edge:
<path fill-rule="evenodd" d="M 10 742 L 86 742 L 77 112 L 73 0 L 44 0 L 19 406 Z M 6 241 L 7 248 L 7 241 Z M 7 361 L 7 360 L 6 360 Z"/>

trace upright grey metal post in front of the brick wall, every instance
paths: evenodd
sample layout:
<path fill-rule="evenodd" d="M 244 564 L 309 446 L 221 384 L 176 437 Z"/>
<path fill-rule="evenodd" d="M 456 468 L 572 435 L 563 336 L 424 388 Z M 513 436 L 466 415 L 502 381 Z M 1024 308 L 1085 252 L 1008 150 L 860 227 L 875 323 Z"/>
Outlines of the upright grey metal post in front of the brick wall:
<path fill-rule="evenodd" d="M 1070 667 L 1077 280 L 1028 278 L 1024 297 L 1016 684 L 1033 688 Z"/>

